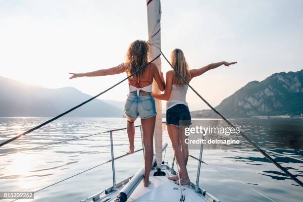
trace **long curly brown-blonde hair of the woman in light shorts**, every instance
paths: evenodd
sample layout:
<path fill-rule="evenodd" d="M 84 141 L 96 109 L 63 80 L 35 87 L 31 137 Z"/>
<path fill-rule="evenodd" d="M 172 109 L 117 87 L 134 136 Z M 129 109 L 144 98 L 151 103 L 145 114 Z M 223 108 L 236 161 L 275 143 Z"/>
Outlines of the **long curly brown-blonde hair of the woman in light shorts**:
<path fill-rule="evenodd" d="M 136 72 L 143 64 L 148 63 L 149 52 L 149 44 L 146 41 L 136 40 L 131 43 L 126 53 L 126 73 L 132 74 Z M 146 68 L 143 71 L 136 73 L 132 77 L 139 80 L 145 70 Z"/>

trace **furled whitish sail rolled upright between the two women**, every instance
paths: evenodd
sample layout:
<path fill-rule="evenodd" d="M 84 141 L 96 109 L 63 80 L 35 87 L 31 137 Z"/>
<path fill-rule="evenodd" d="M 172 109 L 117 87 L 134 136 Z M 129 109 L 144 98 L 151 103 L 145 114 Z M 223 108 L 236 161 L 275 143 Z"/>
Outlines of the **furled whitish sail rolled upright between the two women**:
<path fill-rule="evenodd" d="M 161 49 L 161 31 L 160 31 L 160 19 L 161 19 L 161 4 L 160 0 L 147 0 L 148 10 L 148 29 L 149 29 L 149 41 L 153 45 L 151 46 L 151 56 L 154 57 L 160 54 Z M 159 72 L 161 71 L 161 58 L 158 57 L 154 62 Z M 155 81 L 152 82 L 152 93 L 159 94 L 160 90 Z M 162 163 L 162 103 L 160 100 L 155 100 L 156 107 L 156 122 L 154 128 L 154 147 L 157 166 L 160 167 Z"/>

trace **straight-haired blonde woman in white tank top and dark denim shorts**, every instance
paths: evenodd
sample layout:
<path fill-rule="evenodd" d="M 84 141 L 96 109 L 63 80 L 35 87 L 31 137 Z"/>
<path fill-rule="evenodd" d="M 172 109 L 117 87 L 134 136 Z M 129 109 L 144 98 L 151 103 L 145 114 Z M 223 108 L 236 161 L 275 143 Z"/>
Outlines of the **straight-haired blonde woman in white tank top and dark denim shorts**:
<path fill-rule="evenodd" d="M 175 49 L 171 52 L 171 64 L 173 67 L 190 82 L 193 78 L 202 75 L 210 69 L 217 68 L 221 65 L 229 66 L 237 62 L 217 62 L 208 64 L 200 69 L 189 69 L 182 50 Z M 191 125 L 191 114 L 186 102 L 186 93 L 188 85 L 174 71 L 170 70 L 166 73 L 166 85 L 164 94 L 155 95 L 153 98 L 165 100 L 166 102 L 166 124 L 169 138 L 180 166 L 180 182 L 177 176 L 169 177 L 176 184 L 190 184 L 190 179 L 187 173 L 186 165 L 188 161 L 188 145 L 185 143 L 185 127 Z"/>

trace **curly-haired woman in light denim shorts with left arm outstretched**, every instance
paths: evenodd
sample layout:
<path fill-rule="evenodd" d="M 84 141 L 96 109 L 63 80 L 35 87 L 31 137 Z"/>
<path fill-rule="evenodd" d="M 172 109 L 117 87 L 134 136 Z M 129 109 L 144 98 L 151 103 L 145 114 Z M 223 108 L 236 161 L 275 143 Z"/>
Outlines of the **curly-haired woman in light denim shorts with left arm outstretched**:
<path fill-rule="evenodd" d="M 148 63 L 149 58 L 149 44 L 142 40 L 137 40 L 130 44 L 126 61 L 118 66 L 101 69 L 87 73 L 70 73 L 73 74 L 70 79 L 77 77 L 93 77 L 93 76 L 106 76 L 113 74 L 120 74 L 126 72 L 127 75 L 131 75 L 136 72 L 143 64 Z M 162 75 L 162 74 L 161 74 Z M 129 153 L 134 152 L 134 136 L 135 127 L 134 121 L 141 117 L 141 124 L 143 130 L 143 144 L 145 149 L 145 176 L 144 186 L 150 185 L 149 175 L 152 168 L 153 158 L 153 131 L 155 125 L 155 103 L 152 98 L 152 81 L 153 79 L 157 83 L 159 89 L 164 91 L 164 79 L 161 76 L 156 65 L 151 63 L 143 71 L 138 72 L 134 76 L 130 77 L 129 82 L 129 94 L 124 106 L 124 111 L 127 117 L 127 132 L 130 142 Z"/>

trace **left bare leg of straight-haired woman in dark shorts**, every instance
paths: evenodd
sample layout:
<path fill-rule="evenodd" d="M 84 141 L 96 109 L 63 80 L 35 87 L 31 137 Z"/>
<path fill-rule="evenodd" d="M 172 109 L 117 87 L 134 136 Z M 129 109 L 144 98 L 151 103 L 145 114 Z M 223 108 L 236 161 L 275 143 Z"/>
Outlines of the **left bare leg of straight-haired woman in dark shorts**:
<path fill-rule="evenodd" d="M 181 147 L 180 147 L 179 128 L 173 125 L 167 125 L 167 131 L 169 138 L 172 142 L 172 146 L 175 152 L 177 162 L 180 166 L 180 170 L 181 170 L 180 174 L 182 173 L 182 179 L 180 180 L 181 184 L 182 185 L 190 184 L 189 176 L 186 169 L 185 159 L 183 157 L 183 153 L 181 152 Z M 176 182 L 179 183 L 179 181 Z"/>

